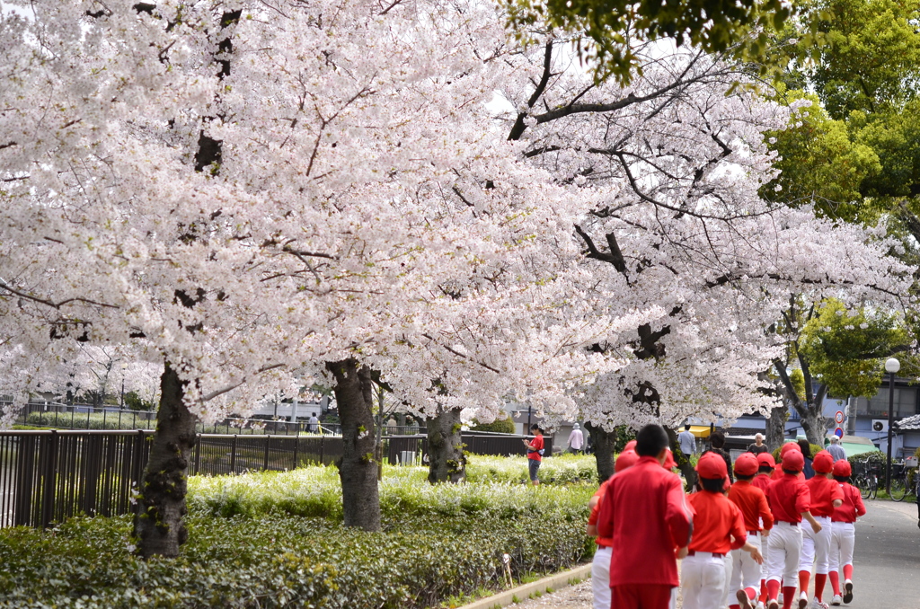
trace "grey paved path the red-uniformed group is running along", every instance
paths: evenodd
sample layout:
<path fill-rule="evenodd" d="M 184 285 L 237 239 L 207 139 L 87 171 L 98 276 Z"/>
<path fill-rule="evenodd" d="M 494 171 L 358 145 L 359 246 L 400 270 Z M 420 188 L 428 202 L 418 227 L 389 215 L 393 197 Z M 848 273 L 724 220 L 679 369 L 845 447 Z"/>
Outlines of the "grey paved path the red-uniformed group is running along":
<path fill-rule="evenodd" d="M 857 523 L 853 609 L 920 609 L 920 529 L 914 503 L 866 502 L 868 513 Z M 825 602 L 831 600 L 830 582 Z M 537 599 L 516 609 L 591 609 L 591 580 Z M 677 603 L 681 606 L 680 599 Z"/>

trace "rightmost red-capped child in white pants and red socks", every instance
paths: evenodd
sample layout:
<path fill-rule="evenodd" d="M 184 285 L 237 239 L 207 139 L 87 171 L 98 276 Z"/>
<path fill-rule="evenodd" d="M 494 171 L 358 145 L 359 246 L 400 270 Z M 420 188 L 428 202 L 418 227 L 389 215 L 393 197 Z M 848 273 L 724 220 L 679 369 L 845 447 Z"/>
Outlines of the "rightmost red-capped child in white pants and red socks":
<path fill-rule="evenodd" d="M 856 545 L 857 516 L 866 515 L 859 489 L 849 483 L 853 473 L 846 459 L 834 463 L 834 480 L 844 493 L 844 502 L 834 509 L 831 517 L 831 586 L 834 598 L 831 604 L 849 603 L 853 600 L 853 546 Z M 840 568 L 844 569 L 844 595 L 840 596 Z"/>

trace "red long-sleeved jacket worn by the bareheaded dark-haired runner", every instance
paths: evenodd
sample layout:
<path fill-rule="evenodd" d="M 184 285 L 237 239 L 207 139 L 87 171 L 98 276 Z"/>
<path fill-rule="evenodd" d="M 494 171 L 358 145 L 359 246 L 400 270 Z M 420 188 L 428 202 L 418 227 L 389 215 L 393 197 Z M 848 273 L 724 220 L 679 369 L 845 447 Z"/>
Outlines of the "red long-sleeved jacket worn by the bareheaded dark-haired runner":
<path fill-rule="evenodd" d="M 640 457 L 611 478 L 601 500 L 597 534 L 611 538 L 616 548 L 610 585 L 677 586 L 674 548 L 686 546 L 692 530 L 681 479 L 654 457 Z"/>

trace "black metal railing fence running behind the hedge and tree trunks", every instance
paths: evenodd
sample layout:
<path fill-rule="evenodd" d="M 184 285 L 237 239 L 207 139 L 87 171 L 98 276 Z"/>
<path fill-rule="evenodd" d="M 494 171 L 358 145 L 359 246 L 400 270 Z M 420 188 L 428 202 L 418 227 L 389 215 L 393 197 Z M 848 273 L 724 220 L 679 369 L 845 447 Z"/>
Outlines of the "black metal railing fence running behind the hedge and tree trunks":
<path fill-rule="evenodd" d="M 462 437 L 470 453 L 525 453 L 525 436 Z M 149 430 L 0 431 L 0 527 L 130 513 L 152 438 Z M 420 465 L 427 447 L 424 435 L 385 436 L 383 454 L 394 465 Z M 189 469 L 205 476 L 282 471 L 330 465 L 341 454 L 340 436 L 198 434 Z M 552 454 L 552 438 L 546 438 L 546 454 Z"/>

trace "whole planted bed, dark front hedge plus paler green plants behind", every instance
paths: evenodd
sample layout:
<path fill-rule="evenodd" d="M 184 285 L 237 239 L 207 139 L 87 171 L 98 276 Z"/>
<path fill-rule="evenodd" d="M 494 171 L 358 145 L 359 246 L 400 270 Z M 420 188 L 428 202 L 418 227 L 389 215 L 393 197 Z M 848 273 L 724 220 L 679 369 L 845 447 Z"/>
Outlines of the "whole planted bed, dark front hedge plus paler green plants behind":
<path fill-rule="evenodd" d="M 431 486 L 386 467 L 384 531 L 341 524 L 334 468 L 190 480 L 178 558 L 135 557 L 129 517 L 0 531 L 0 607 L 421 609 L 590 557 L 591 485 Z"/>

